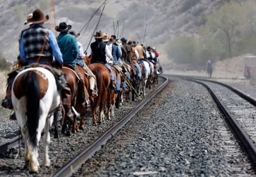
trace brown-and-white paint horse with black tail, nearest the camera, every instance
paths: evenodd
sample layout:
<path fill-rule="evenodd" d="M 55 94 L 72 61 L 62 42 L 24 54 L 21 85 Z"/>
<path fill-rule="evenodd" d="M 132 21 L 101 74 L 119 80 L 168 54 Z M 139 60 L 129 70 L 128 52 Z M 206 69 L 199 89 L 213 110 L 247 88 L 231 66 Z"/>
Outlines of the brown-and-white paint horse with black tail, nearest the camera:
<path fill-rule="evenodd" d="M 44 68 L 20 71 L 13 82 L 11 101 L 25 142 L 25 162 L 30 172 L 38 172 L 37 146 L 43 130 L 43 165 L 50 166 L 49 128 L 53 122 L 53 112 L 60 104 L 55 77 L 51 71 Z"/>

